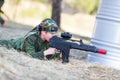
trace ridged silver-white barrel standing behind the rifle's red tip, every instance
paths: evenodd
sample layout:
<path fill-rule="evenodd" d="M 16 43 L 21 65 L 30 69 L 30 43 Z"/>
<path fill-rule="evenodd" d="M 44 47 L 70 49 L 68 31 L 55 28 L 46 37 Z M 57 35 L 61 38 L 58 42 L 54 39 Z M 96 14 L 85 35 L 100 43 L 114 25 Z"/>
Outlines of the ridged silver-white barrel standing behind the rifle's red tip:
<path fill-rule="evenodd" d="M 101 0 L 91 44 L 107 50 L 106 55 L 90 53 L 87 61 L 120 69 L 120 0 Z"/>

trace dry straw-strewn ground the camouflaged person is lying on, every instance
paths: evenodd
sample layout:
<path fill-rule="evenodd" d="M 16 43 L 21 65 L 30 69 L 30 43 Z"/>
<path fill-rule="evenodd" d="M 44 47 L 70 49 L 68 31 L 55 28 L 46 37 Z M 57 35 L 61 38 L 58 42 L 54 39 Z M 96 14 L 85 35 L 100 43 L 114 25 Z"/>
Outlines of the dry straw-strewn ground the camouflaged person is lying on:
<path fill-rule="evenodd" d="M 25 35 L 31 26 L 9 22 L 0 27 L 0 39 L 10 39 Z M 71 50 L 70 62 L 60 60 L 39 60 L 0 47 L 0 80 L 119 80 L 120 70 L 108 66 L 86 62 L 87 53 Z"/>

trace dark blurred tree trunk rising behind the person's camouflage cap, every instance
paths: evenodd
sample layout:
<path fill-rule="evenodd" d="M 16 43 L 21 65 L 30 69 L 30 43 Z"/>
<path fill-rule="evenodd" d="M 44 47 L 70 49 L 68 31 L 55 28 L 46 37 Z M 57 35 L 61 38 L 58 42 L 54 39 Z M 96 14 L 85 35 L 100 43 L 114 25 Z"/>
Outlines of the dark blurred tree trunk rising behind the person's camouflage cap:
<path fill-rule="evenodd" d="M 52 19 L 56 21 L 59 28 L 61 19 L 61 2 L 62 0 L 52 0 Z"/>

